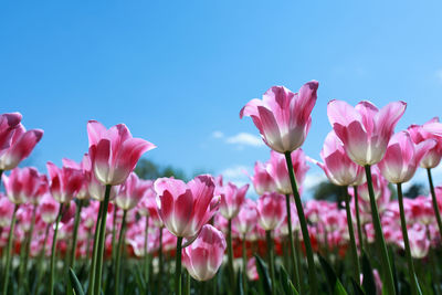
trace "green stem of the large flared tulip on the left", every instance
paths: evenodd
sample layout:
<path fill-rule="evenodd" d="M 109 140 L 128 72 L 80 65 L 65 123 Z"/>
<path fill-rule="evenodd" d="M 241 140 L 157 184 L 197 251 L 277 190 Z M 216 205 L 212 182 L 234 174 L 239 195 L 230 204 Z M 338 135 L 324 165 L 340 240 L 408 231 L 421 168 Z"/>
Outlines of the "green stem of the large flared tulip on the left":
<path fill-rule="evenodd" d="M 103 215 L 99 222 L 99 230 L 98 230 L 98 251 L 96 257 L 96 266 L 95 266 L 95 283 L 94 283 L 94 294 L 99 295 L 102 288 L 102 276 L 103 276 L 103 259 L 104 259 L 104 245 L 106 240 L 106 221 L 107 221 L 107 207 L 109 206 L 109 198 L 110 198 L 110 185 L 106 185 L 106 191 L 104 194 L 103 201 Z"/>

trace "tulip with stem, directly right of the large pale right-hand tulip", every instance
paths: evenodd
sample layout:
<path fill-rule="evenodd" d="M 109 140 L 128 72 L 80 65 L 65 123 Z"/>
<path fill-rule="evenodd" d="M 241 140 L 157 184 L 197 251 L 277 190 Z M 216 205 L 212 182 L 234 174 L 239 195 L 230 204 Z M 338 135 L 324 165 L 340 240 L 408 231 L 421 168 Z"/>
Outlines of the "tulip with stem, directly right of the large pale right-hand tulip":
<path fill-rule="evenodd" d="M 410 275 L 412 294 L 419 294 L 415 282 L 413 259 L 411 256 L 410 242 L 407 232 L 407 221 L 403 210 L 402 182 L 409 181 L 418 168 L 423 156 L 436 145 L 434 139 L 427 139 L 414 145 L 408 131 L 401 131 L 391 137 L 383 159 L 378 164 L 383 177 L 397 185 L 402 238 L 406 247 L 408 271 Z"/>

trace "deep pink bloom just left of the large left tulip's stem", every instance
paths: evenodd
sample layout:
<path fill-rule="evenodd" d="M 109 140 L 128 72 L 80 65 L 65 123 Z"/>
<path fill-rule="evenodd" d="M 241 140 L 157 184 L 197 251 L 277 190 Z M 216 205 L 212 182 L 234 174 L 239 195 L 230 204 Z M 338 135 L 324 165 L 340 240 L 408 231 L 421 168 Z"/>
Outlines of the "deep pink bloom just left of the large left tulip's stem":
<path fill-rule="evenodd" d="M 50 177 L 50 191 L 60 203 L 70 203 L 83 185 L 83 173 L 77 169 L 67 167 L 59 168 L 53 162 L 48 162 Z"/>

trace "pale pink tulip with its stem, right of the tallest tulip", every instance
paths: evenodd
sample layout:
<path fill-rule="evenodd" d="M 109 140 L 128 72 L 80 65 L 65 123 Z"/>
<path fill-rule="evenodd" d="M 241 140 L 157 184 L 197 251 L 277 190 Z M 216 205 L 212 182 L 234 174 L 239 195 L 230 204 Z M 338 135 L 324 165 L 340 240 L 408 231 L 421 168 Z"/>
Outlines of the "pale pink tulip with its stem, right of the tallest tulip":
<path fill-rule="evenodd" d="M 343 141 L 347 156 L 365 167 L 376 240 L 381 254 L 386 286 L 390 294 L 394 294 L 396 289 L 372 191 L 370 167 L 378 164 L 386 154 L 388 141 L 393 135 L 397 123 L 406 112 L 406 107 L 407 104 L 403 102 L 390 103 L 381 109 L 370 102 L 360 102 L 352 107 L 343 101 L 332 101 L 327 106 L 328 119 L 336 135 Z"/>

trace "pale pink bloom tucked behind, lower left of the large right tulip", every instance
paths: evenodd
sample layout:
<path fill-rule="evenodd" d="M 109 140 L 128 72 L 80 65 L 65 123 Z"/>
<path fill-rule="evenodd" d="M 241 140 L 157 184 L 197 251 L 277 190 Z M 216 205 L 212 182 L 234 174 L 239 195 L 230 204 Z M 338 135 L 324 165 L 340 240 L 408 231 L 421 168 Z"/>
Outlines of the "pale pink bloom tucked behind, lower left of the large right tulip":
<path fill-rule="evenodd" d="M 365 180 L 364 168 L 355 164 L 345 152 L 344 144 L 330 131 L 320 150 L 323 162 L 312 160 L 326 173 L 328 180 L 336 186 L 359 186 Z"/>

